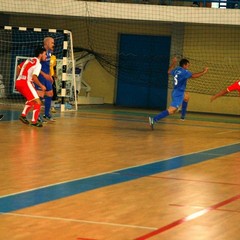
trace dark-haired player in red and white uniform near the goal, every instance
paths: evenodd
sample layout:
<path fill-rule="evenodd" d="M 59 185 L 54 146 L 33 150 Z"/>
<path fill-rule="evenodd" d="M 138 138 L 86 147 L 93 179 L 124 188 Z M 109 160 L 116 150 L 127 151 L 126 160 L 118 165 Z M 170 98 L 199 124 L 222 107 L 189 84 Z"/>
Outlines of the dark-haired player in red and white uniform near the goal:
<path fill-rule="evenodd" d="M 27 99 L 19 120 L 24 124 L 29 124 L 27 114 L 33 108 L 32 121 L 30 124 L 35 127 L 42 127 L 42 123 L 38 122 L 41 100 L 39 99 L 33 83 L 38 85 L 43 92 L 46 90 L 46 87 L 41 84 L 38 79 L 38 75 L 41 71 L 40 61 L 46 61 L 47 58 L 46 49 L 42 46 L 36 48 L 34 56 L 34 58 L 30 58 L 23 63 L 16 80 L 16 89 Z"/>

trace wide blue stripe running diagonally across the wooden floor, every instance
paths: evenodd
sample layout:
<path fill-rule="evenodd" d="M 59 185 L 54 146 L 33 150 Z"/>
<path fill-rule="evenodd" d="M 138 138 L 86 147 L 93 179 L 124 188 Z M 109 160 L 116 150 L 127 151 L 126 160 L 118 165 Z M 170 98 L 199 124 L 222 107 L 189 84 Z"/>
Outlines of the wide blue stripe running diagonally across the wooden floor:
<path fill-rule="evenodd" d="M 102 175 L 46 186 L 27 192 L 3 196 L 0 197 L 0 213 L 16 211 L 90 190 L 139 179 L 144 176 L 177 169 L 180 167 L 189 166 L 216 157 L 237 153 L 239 150 L 240 143 L 237 143 L 202 152 L 177 156 L 174 158 L 148 163 L 141 166 L 113 171 Z"/>

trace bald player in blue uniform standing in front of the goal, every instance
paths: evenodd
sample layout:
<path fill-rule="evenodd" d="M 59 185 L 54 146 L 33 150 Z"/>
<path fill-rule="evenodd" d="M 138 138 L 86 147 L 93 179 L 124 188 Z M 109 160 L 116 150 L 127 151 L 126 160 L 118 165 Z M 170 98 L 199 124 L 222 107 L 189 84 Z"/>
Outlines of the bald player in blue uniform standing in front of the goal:
<path fill-rule="evenodd" d="M 39 81 L 46 87 L 46 91 L 42 92 L 41 89 L 36 86 L 37 92 L 40 97 L 44 97 L 44 115 L 43 118 L 47 121 L 55 121 L 50 114 L 51 102 L 53 97 L 53 78 L 50 74 L 50 59 L 54 50 L 54 39 L 52 37 L 46 37 L 43 40 L 44 48 L 47 50 L 47 60 L 41 62 L 42 69 L 39 75 Z"/>

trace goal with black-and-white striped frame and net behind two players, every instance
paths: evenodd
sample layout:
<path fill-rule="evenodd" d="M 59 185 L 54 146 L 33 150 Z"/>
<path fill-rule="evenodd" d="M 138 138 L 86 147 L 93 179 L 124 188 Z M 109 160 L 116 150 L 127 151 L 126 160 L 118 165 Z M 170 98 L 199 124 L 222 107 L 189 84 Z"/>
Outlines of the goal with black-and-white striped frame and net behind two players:
<path fill-rule="evenodd" d="M 18 64 L 33 57 L 45 37 L 53 37 L 56 56 L 55 107 L 76 110 L 75 63 L 70 31 L 25 27 L 0 27 L 0 104 L 22 106 L 25 98 L 15 89 Z"/>

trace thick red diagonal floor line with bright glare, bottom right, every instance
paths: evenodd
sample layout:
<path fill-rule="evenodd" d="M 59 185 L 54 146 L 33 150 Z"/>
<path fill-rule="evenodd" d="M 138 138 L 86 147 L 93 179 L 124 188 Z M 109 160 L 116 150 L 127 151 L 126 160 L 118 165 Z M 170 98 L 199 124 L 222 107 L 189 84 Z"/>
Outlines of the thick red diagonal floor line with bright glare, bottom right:
<path fill-rule="evenodd" d="M 198 217 L 201 217 L 201 216 L 209 213 L 210 211 L 216 210 L 216 209 L 218 209 L 218 208 L 220 208 L 222 206 L 225 206 L 225 205 L 227 205 L 229 203 L 232 203 L 234 201 L 237 201 L 239 199 L 240 199 L 240 194 L 236 195 L 234 197 L 231 197 L 229 199 L 226 199 L 226 200 L 224 200 L 222 202 L 219 202 L 217 204 L 214 204 L 214 205 L 212 205 L 210 207 L 207 207 L 205 209 L 202 209 L 202 210 L 200 210 L 198 212 L 190 214 L 187 217 L 180 218 L 180 219 L 178 219 L 178 220 L 176 220 L 176 221 L 174 221 L 174 222 L 172 222 L 172 223 L 170 223 L 168 225 L 165 225 L 165 226 L 163 226 L 163 227 L 161 227 L 161 228 L 159 228 L 159 229 L 157 229 L 155 231 L 152 231 L 152 232 L 147 233 L 147 234 L 145 234 L 143 236 L 137 237 L 134 240 L 146 240 L 146 239 L 149 239 L 151 237 L 154 237 L 154 236 L 159 235 L 159 234 L 161 234 L 163 232 L 166 232 L 167 230 L 170 230 L 170 229 L 172 229 L 174 227 L 177 227 L 177 226 L 179 226 L 179 225 L 181 225 L 181 224 L 183 224 L 185 222 L 188 222 L 188 221 L 194 220 L 194 219 L 196 219 Z"/>

